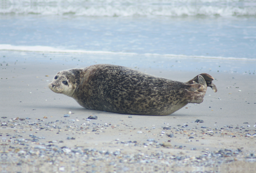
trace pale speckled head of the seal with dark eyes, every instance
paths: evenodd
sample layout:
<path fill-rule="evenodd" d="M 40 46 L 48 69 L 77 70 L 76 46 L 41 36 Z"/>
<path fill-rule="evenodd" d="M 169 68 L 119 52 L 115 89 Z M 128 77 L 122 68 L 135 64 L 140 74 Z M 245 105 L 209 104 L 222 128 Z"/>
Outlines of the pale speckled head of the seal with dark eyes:
<path fill-rule="evenodd" d="M 77 84 L 79 84 L 79 71 L 77 69 L 69 69 L 59 71 L 48 87 L 54 93 L 65 94 L 72 97 L 76 90 Z"/>

